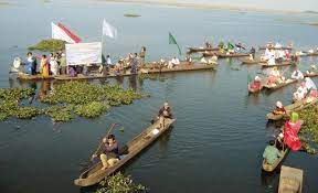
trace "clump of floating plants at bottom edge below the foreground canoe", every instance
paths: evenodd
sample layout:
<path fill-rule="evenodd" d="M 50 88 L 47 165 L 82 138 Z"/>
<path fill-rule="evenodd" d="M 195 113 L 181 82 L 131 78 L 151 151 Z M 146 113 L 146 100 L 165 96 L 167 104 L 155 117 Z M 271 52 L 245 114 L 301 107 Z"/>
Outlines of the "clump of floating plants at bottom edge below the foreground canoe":
<path fill-rule="evenodd" d="M 147 192 L 147 187 L 141 184 L 135 184 L 131 176 L 125 176 L 120 172 L 108 176 L 99 183 L 103 187 L 95 193 L 142 193 Z"/>

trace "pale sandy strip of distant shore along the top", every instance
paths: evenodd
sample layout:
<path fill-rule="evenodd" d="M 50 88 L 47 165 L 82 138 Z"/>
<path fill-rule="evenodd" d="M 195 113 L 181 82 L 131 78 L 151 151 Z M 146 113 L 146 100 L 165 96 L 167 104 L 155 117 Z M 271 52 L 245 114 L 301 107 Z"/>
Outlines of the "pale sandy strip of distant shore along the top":
<path fill-rule="evenodd" d="M 168 6 L 176 8 L 191 8 L 191 9 L 206 9 L 206 10 L 229 10 L 229 11 L 242 11 L 242 12 L 266 12 L 266 13 L 308 13 L 310 11 L 297 11 L 297 10 L 275 10 L 275 9 L 259 9 L 254 7 L 239 7 L 231 4 L 219 3 L 204 3 L 204 2 L 177 2 L 169 0 L 89 0 L 93 2 L 118 2 L 118 3 L 131 3 L 131 4 L 147 4 L 147 6 Z"/>

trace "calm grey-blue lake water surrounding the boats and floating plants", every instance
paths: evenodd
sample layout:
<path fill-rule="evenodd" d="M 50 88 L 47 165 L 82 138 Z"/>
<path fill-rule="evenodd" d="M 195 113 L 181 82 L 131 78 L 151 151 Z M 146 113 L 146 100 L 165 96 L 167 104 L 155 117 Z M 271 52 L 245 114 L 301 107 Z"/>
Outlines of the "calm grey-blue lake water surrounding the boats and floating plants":
<path fill-rule="evenodd" d="M 127 12 L 141 17 L 124 18 Z M 141 45 L 148 49 L 148 61 L 172 57 L 177 49 L 168 44 L 168 32 L 174 34 L 183 51 L 188 45 L 201 44 L 205 37 L 214 44 L 230 40 L 261 45 L 278 40 L 293 41 L 300 49 L 318 45 L 317 28 L 277 21 L 312 18 L 305 14 L 17 1 L 14 6 L 0 8 L 0 86 L 34 86 L 34 83 L 9 82 L 9 66 L 14 56 L 25 55 L 29 45 L 50 37 L 51 21 L 62 21 L 89 42 L 100 41 L 103 18 L 119 31 L 116 41 L 105 42 L 105 53 L 114 57 L 138 52 Z M 303 60 L 301 69 L 315 62 L 315 57 Z M 115 131 L 115 135 L 124 143 L 149 126 L 166 99 L 178 120 L 169 132 L 124 168 L 126 174 L 155 193 L 275 192 L 279 173 L 264 175 L 261 171 L 266 141 L 275 133 L 265 115 L 278 99 L 290 104 L 296 85 L 248 96 L 248 72 L 255 75 L 261 69 L 241 66 L 237 60 L 223 60 L 216 71 L 169 74 L 165 82 L 125 78 L 125 87 L 132 86 L 151 97 L 112 108 L 107 115 L 93 120 L 76 118 L 54 125 L 46 117 L 38 117 L 0 122 L 0 192 L 80 192 L 73 180 L 106 128 L 112 122 L 123 125 L 125 132 Z M 109 79 L 110 84 L 116 82 Z M 40 89 L 42 84 L 39 82 L 35 86 Z M 290 152 L 284 164 L 305 171 L 304 192 L 318 192 L 317 156 Z"/>

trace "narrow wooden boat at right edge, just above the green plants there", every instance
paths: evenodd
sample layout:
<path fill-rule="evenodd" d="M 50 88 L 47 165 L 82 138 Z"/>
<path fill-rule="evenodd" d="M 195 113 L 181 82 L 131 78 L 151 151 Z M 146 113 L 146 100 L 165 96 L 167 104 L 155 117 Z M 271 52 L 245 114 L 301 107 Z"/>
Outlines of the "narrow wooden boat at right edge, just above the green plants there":
<path fill-rule="evenodd" d="M 304 104 L 304 101 L 296 101 L 295 104 L 292 104 L 292 105 L 288 105 L 288 106 L 285 106 L 285 109 L 288 111 L 298 111 L 298 110 L 301 110 L 301 109 L 305 109 L 305 108 L 308 108 L 315 104 L 318 103 L 318 98 L 314 99 L 311 103 L 306 103 Z M 277 115 L 277 114 L 274 114 L 274 112 L 268 112 L 266 115 L 267 119 L 269 120 L 280 120 L 283 119 L 284 117 L 286 117 L 286 115 Z"/>

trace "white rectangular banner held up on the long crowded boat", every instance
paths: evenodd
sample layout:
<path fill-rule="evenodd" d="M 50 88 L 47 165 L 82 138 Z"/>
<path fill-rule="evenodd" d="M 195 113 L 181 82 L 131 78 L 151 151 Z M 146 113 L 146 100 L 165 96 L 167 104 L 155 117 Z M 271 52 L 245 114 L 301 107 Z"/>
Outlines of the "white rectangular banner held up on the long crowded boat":
<path fill-rule="evenodd" d="M 102 64 L 100 42 L 66 44 L 65 52 L 67 65 Z"/>

